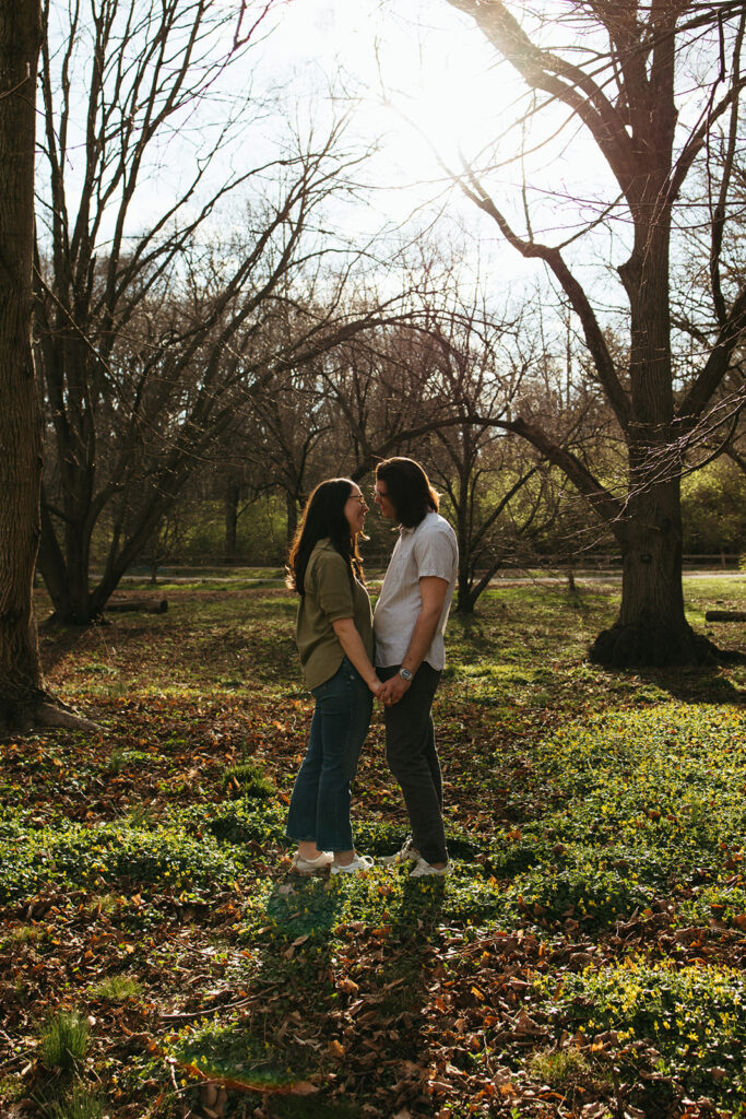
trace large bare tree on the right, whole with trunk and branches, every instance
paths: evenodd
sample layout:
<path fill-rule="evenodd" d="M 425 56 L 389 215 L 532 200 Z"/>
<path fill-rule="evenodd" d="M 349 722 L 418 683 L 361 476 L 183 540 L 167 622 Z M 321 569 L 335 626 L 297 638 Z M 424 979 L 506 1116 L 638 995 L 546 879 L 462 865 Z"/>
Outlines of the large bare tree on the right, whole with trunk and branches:
<path fill-rule="evenodd" d="M 626 443 L 626 480 L 610 489 L 592 467 L 564 449 L 530 419 L 509 430 L 529 440 L 560 467 L 611 527 L 623 555 L 623 593 L 617 623 L 599 634 L 592 658 L 608 665 L 672 665 L 710 659 L 717 650 L 693 633 L 681 587 L 680 476 L 687 448 L 726 378 L 746 329 L 746 288 L 726 284 L 723 245 L 729 217 L 733 161 L 726 160 L 710 220 L 709 299 L 716 330 L 682 383 L 671 326 L 672 232 L 686 224 L 688 177 L 707 158 L 715 128 L 724 122 L 726 147 L 738 137 L 738 101 L 746 84 L 742 44 L 743 3 L 684 0 L 615 3 L 572 0 L 563 17 L 546 4 L 525 4 L 523 23 L 500 0 L 448 0 L 471 16 L 481 32 L 528 86 L 527 119 L 560 109 L 582 125 L 611 171 L 617 198 L 592 224 L 620 214 L 631 228 L 631 253 L 616 269 L 626 298 L 629 360 L 615 360 L 602 328 L 596 293 L 584 288 L 568 263 L 567 243 L 537 238 L 530 220 L 520 232 L 482 177 L 465 166 L 459 178 L 466 195 L 525 257 L 542 261 L 579 323 L 592 375 L 602 387 Z M 546 17 L 546 19 L 545 19 Z M 575 41 L 540 45 L 554 29 L 573 27 Z M 528 28 L 528 29 L 527 29 Z M 556 35 L 555 35 L 556 37 Z M 709 75 L 699 78 L 700 112 L 677 103 L 677 76 L 684 59 Z"/>

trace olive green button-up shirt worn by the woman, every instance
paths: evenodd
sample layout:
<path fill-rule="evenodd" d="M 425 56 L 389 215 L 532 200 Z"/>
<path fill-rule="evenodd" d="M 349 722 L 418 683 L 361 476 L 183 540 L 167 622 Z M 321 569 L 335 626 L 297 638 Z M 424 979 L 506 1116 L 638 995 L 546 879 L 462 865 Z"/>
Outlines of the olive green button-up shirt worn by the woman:
<path fill-rule="evenodd" d="M 368 592 L 329 539 L 319 540 L 311 553 L 303 584 L 295 641 L 305 684 L 317 688 L 334 675 L 344 656 L 332 622 L 351 618 L 372 660 L 372 613 Z"/>

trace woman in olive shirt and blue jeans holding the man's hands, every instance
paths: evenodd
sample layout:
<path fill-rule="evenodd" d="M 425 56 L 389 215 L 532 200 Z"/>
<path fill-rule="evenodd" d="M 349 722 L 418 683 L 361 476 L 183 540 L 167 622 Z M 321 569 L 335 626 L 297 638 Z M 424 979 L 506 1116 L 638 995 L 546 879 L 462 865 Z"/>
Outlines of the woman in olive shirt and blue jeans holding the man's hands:
<path fill-rule="evenodd" d="M 372 666 L 372 615 L 358 536 L 368 506 L 348 478 L 321 482 L 309 498 L 290 552 L 287 585 L 301 596 L 296 642 L 317 702 L 311 736 L 295 778 L 285 834 L 298 843 L 300 874 L 331 866 L 356 874 L 350 782 L 381 681 Z"/>

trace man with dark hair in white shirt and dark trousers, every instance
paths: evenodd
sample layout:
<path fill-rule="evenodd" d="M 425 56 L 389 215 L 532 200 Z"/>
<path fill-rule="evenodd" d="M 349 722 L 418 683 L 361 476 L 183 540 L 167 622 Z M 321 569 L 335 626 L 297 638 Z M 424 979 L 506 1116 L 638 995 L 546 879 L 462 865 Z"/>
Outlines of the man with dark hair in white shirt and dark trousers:
<path fill-rule="evenodd" d="M 374 614 L 376 667 L 385 681 L 378 698 L 385 704 L 386 760 L 412 825 L 412 837 L 391 862 L 414 863 L 413 878 L 443 875 L 450 867 L 431 707 L 445 662 L 443 630 L 459 548 L 419 463 L 380 462 L 375 500 L 380 515 L 399 525 Z"/>

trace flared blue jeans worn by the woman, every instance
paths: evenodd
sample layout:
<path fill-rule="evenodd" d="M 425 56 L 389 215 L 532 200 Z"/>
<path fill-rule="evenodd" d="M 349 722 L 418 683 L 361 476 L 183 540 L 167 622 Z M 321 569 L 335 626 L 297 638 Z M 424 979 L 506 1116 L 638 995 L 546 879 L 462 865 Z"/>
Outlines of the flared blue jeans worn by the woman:
<path fill-rule="evenodd" d="M 285 835 L 296 843 L 315 840 L 319 850 L 352 850 L 350 782 L 370 725 L 372 694 L 347 657 L 311 694 L 317 706 Z"/>

